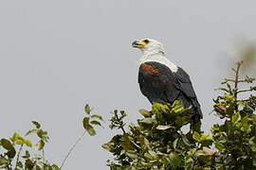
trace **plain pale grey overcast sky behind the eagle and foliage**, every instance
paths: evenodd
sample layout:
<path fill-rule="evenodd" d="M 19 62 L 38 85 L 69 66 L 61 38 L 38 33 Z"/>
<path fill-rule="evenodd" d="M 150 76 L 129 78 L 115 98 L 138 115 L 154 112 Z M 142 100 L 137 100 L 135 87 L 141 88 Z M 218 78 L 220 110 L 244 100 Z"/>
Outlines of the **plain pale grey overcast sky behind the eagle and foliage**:
<path fill-rule="evenodd" d="M 46 157 L 60 164 L 82 133 L 83 106 L 108 119 L 114 109 L 150 109 L 139 92 L 140 51 L 149 37 L 191 76 L 206 131 L 216 122 L 213 89 L 229 75 L 237 44 L 256 38 L 255 1 L 1 0 L 0 137 L 37 120 L 49 132 Z M 107 127 L 107 126 L 106 126 Z M 82 140 L 64 170 L 108 169 L 101 149 L 114 133 Z"/>

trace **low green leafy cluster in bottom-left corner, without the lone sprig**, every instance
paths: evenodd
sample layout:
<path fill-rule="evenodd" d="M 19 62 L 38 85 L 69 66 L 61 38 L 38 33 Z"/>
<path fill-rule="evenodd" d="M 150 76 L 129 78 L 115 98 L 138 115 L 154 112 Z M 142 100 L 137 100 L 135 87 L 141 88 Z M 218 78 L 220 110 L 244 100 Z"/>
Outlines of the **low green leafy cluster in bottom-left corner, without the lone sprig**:
<path fill-rule="evenodd" d="M 38 122 L 33 121 L 35 126 L 29 129 L 26 137 L 36 135 L 38 142 L 32 144 L 30 140 L 14 132 L 9 139 L 1 139 L 0 146 L 5 149 L 4 153 L 0 154 L 0 168 L 14 170 L 59 170 L 56 164 L 51 164 L 45 159 L 45 144 L 48 142 L 48 135 Z M 27 149 L 24 151 L 24 147 Z M 18 148 L 17 148 L 18 147 Z M 31 153 L 36 153 L 32 155 Z M 15 161 L 16 160 L 16 161 Z M 14 164 L 12 164 L 14 162 Z"/>

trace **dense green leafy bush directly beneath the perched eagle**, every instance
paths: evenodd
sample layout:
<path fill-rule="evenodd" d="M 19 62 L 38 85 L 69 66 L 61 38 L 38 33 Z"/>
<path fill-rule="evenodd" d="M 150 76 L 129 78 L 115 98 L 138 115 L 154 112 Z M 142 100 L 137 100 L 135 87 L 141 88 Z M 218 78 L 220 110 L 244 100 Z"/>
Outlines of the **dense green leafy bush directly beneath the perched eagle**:
<path fill-rule="evenodd" d="M 188 110 L 180 101 L 173 105 L 155 103 L 151 111 L 140 110 L 144 118 L 137 120 L 137 126 L 130 125 L 128 132 L 122 130 L 122 134 L 102 144 L 115 156 L 115 161 L 108 161 L 108 165 L 113 170 L 192 169 L 194 164 L 200 167 L 204 160 L 198 157 L 207 154 L 212 139 L 202 132 L 182 132 L 181 127 L 190 122 Z M 123 112 L 114 111 L 110 127 L 123 128 Z"/>

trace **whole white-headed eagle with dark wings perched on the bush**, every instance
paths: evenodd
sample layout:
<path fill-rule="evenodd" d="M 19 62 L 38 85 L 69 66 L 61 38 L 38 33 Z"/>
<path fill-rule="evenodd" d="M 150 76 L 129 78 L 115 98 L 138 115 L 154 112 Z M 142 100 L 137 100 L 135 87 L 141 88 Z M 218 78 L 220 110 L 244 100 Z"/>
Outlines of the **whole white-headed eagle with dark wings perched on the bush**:
<path fill-rule="evenodd" d="M 192 88 L 190 76 L 166 58 L 162 43 L 152 39 L 133 42 L 133 47 L 142 51 L 138 71 L 138 83 L 143 93 L 153 104 L 173 103 L 181 100 L 190 107 L 192 123 L 200 123 L 202 111 Z"/>

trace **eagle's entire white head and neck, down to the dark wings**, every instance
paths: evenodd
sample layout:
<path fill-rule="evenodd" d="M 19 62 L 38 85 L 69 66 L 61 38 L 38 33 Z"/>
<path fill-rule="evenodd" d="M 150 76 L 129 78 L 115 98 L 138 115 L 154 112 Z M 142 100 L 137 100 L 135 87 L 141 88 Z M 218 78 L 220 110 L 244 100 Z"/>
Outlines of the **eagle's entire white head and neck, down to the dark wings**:
<path fill-rule="evenodd" d="M 133 47 L 142 51 L 140 63 L 155 61 L 169 67 L 173 72 L 176 72 L 178 67 L 165 57 L 163 44 L 152 39 L 141 39 L 133 42 Z"/>

